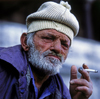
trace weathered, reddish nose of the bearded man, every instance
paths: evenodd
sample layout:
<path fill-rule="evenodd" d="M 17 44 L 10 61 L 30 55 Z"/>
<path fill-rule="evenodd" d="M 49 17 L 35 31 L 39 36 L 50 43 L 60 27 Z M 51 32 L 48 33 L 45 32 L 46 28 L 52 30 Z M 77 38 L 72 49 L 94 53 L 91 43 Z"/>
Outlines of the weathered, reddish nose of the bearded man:
<path fill-rule="evenodd" d="M 55 40 L 54 42 L 52 42 L 51 50 L 55 51 L 56 53 L 61 53 L 62 52 L 62 47 L 61 47 L 60 40 Z"/>

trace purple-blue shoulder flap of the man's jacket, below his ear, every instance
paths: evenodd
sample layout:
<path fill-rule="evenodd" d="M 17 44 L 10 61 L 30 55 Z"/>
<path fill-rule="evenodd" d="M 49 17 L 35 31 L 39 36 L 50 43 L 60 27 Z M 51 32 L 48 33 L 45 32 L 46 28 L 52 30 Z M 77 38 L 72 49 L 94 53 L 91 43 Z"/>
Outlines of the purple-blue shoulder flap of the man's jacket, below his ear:
<path fill-rule="evenodd" d="M 27 57 L 21 45 L 8 48 L 0 48 L 0 60 L 8 62 L 19 72 L 27 70 Z"/>

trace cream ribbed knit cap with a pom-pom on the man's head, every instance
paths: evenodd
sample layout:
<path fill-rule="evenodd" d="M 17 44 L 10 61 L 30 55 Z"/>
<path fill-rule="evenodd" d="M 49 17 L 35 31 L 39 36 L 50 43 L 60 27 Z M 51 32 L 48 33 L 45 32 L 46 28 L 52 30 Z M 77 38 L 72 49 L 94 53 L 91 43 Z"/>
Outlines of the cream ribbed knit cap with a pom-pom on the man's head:
<path fill-rule="evenodd" d="M 61 1 L 60 4 L 48 1 L 40 8 L 27 16 L 27 33 L 43 29 L 55 29 L 66 34 L 71 42 L 78 34 L 79 23 L 76 17 L 70 12 L 71 6 L 68 2 Z"/>

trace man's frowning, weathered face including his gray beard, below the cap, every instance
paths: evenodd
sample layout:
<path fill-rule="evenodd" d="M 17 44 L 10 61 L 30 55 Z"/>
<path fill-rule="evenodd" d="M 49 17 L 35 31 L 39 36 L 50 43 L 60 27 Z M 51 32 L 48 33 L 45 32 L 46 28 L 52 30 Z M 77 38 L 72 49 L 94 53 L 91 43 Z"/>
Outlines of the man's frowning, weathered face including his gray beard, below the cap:
<path fill-rule="evenodd" d="M 36 32 L 32 42 L 28 51 L 30 63 L 50 75 L 58 73 L 67 57 L 70 39 L 63 33 L 48 29 Z"/>

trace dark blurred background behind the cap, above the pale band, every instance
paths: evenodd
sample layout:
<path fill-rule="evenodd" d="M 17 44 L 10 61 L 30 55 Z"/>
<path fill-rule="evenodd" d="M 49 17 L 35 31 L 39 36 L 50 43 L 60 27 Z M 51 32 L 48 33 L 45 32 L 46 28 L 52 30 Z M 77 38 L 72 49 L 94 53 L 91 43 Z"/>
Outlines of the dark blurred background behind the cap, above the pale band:
<path fill-rule="evenodd" d="M 0 0 L 0 20 L 26 24 L 27 15 L 35 12 L 46 1 L 49 0 Z M 60 0 L 51 1 L 60 2 Z M 78 36 L 100 41 L 100 1 L 67 1 L 80 24 Z"/>

